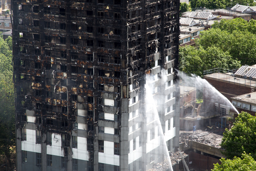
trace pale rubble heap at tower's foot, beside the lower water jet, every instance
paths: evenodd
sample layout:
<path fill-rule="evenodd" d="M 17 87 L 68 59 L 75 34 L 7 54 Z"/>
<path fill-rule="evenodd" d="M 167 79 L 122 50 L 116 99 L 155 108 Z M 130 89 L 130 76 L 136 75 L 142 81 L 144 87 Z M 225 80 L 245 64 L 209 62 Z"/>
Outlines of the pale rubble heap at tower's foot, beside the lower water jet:
<path fill-rule="evenodd" d="M 187 154 L 185 154 L 184 152 L 181 152 L 183 155 L 183 158 L 186 161 L 186 158 L 188 157 Z M 172 166 L 174 166 L 175 164 L 179 164 L 182 162 L 182 158 L 180 156 L 179 152 L 175 152 L 175 153 L 171 153 L 170 154 L 170 161 L 172 162 Z M 148 169 L 147 171 L 165 171 L 170 167 L 169 161 L 167 159 L 165 159 L 163 162 L 161 163 L 156 163 L 154 164 L 153 168 Z"/>

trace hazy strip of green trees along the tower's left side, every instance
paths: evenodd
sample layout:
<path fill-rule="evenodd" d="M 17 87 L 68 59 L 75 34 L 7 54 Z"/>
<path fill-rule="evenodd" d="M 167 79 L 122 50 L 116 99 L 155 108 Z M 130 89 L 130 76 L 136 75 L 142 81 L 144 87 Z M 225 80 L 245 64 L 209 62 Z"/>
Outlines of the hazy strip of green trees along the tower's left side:
<path fill-rule="evenodd" d="M 6 156 L 12 167 L 12 153 L 15 153 L 15 107 L 12 82 L 11 38 L 0 37 L 0 155 Z"/>

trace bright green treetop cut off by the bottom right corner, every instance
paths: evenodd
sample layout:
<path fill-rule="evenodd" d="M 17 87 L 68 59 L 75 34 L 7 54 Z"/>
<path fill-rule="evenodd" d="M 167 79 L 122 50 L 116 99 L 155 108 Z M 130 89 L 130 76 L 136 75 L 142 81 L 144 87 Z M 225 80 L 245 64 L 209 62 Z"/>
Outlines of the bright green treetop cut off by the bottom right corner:
<path fill-rule="evenodd" d="M 214 164 L 214 169 L 211 171 L 250 171 L 256 170 L 256 161 L 246 153 L 242 154 L 242 157 L 234 157 L 233 160 L 230 159 L 220 159 L 221 164 Z"/>

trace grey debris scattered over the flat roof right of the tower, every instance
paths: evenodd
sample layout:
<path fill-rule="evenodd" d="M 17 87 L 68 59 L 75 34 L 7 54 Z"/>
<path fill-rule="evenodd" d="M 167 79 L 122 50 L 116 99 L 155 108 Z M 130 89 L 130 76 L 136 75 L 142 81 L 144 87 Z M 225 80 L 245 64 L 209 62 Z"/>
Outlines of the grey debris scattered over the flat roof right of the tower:
<path fill-rule="evenodd" d="M 221 148 L 220 143 L 222 138 L 223 136 L 221 135 L 202 130 L 197 130 L 196 134 L 193 134 L 193 131 L 180 132 L 180 143 L 185 143 L 185 146 L 188 146 L 188 141 L 197 141 L 209 146 Z"/>

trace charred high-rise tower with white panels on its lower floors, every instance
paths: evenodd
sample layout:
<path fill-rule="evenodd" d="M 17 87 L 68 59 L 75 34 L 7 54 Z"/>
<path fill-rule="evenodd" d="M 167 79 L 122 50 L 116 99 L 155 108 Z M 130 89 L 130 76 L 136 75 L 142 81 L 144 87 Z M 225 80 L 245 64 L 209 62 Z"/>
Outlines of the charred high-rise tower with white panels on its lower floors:
<path fill-rule="evenodd" d="M 13 0 L 12 13 L 18 171 L 146 170 L 160 127 L 179 146 L 179 1 Z"/>

